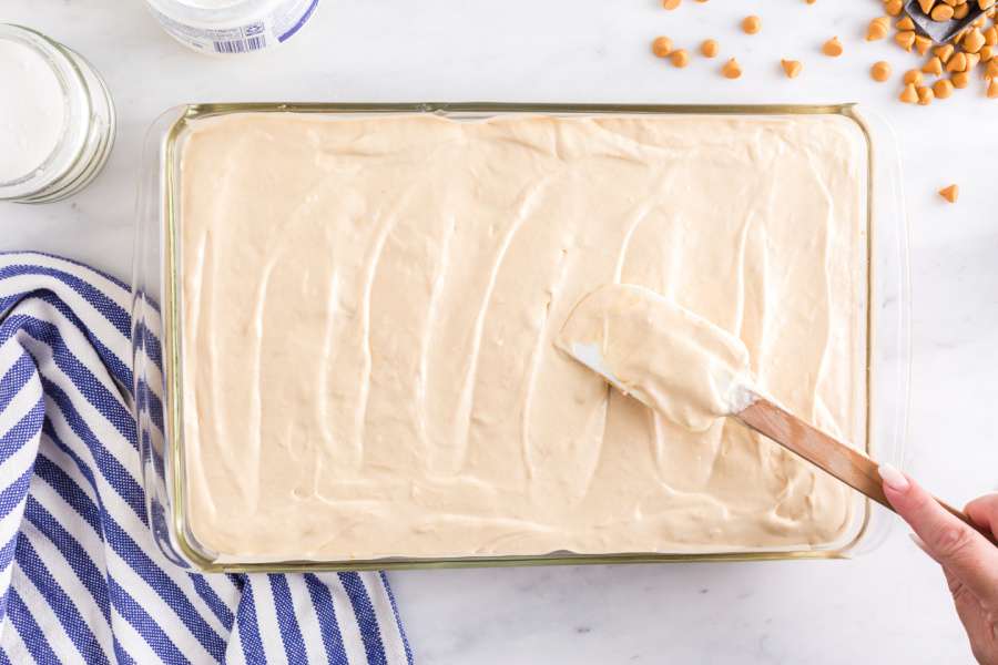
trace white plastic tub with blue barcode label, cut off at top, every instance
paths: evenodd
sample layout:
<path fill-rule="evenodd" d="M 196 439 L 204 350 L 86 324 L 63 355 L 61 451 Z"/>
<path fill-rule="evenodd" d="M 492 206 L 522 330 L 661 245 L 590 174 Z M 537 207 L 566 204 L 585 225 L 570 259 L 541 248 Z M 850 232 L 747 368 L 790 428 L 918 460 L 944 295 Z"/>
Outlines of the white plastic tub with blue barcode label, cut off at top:
<path fill-rule="evenodd" d="M 201 53 L 253 53 L 287 41 L 318 0 L 146 0 L 176 41 Z"/>

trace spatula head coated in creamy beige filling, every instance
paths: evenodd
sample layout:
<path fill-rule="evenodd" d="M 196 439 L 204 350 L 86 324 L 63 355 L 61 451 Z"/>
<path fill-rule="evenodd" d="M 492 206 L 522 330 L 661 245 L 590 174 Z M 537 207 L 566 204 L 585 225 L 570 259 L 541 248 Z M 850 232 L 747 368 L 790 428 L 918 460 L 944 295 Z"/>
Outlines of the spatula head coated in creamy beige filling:
<path fill-rule="evenodd" d="M 741 339 L 651 289 L 601 286 L 572 309 L 559 348 L 691 431 L 741 410 L 751 390 Z"/>

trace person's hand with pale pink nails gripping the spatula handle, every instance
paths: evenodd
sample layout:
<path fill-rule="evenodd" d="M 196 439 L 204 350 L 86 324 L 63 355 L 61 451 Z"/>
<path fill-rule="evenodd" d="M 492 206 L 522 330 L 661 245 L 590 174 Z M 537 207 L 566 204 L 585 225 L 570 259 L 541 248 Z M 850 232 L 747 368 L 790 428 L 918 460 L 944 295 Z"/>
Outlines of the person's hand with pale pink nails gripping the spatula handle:
<path fill-rule="evenodd" d="M 890 505 L 918 536 L 916 544 L 943 566 L 974 656 L 981 665 L 998 665 L 998 548 L 894 467 L 882 466 L 880 478 Z M 998 494 L 975 499 L 966 512 L 998 532 Z"/>

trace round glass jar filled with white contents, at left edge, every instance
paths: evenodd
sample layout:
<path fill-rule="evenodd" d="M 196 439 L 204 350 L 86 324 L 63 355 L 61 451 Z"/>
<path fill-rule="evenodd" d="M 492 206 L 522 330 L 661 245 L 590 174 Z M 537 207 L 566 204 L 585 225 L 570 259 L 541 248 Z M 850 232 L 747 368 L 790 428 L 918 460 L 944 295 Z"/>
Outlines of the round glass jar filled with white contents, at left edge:
<path fill-rule="evenodd" d="M 74 51 L 0 23 L 0 201 L 48 203 L 100 173 L 114 143 L 108 86 Z"/>

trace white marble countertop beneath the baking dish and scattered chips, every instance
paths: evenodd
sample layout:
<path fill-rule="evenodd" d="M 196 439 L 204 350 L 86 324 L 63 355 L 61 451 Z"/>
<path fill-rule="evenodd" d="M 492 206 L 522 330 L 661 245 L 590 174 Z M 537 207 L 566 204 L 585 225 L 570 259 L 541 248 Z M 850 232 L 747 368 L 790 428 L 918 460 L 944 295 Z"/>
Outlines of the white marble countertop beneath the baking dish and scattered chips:
<path fill-rule="evenodd" d="M 895 102 L 875 60 L 913 57 L 863 41 L 875 0 L 653 0 L 503 3 L 322 0 L 277 51 L 217 60 L 186 51 L 140 0 L 3 0 L 0 21 L 40 29 L 90 59 L 120 111 L 102 176 L 72 201 L 0 203 L 0 249 L 72 256 L 128 277 L 140 145 L 153 119 L 189 101 L 860 101 L 897 131 L 914 293 L 909 462 L 954 502 L 996 489 L 998 100 L 977 81 L 930 108 Z M 742 34 L 745 13 L 763 32 Z M 648 52 L 656 34 L 737 54 L 678 71 Z M 845 54 L 821 55 L 838 34 Z M 787 81 L 780 58 L 804 62 Z M 2 94 L 2 79 L 0 79 Z M 948 206 L 935 194 L 963 187 Z M 851 561 L 581 566 L 391 575 L 424 663 L 964 663 L 970 654 L 940 575 L 896 528 Z"/>

